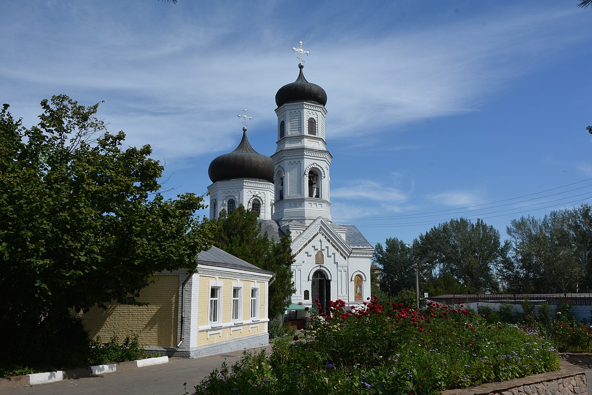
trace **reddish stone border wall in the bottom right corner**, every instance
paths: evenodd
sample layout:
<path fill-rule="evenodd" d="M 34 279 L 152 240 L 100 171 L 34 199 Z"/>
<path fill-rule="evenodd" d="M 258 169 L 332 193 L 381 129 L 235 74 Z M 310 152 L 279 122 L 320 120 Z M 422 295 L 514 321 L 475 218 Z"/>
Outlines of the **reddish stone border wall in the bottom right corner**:
<path fill-rule="evenodd" d="M 590 386 L 590 387 L 588 387 Z M 558 371 L 514 378 L 477 387 L 446 390 L 442 395 L 592 394 L 592 371 L 561 361 Z"/>

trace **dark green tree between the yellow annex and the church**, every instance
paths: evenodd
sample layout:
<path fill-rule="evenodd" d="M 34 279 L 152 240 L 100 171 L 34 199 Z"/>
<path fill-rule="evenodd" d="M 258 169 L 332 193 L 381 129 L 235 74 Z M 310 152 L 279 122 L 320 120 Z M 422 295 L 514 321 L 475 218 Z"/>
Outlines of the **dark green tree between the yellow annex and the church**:
<path fill-rule="evenodd" d="M 291 265 L 294 262 L 289 235 L 278 242 L 267 232 L 261 232 L 258 216 L 241 204 L 231 213 L 220 212 L 216 224 L 214 245 L 260 269 L 275 272 L 269 285 L 269 317 L 282 314 L 295 292 Z"/>

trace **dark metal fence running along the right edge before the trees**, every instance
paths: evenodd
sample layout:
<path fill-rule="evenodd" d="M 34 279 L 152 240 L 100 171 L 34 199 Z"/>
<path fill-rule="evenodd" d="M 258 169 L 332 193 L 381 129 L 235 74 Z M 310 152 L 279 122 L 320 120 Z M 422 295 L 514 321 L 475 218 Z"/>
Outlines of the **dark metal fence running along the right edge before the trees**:
<path fill-rule="evenodd" d="M 427 300 L 441 304 L 463 303 L 507 303 L 521 304 L 529 301 L 532 304 L 550 304 L 556 306 L 567 301 L 571 306 L 592 306 L 592 293 L 578 294 L 467 294 L 441 295 L 428 297 Z"/>

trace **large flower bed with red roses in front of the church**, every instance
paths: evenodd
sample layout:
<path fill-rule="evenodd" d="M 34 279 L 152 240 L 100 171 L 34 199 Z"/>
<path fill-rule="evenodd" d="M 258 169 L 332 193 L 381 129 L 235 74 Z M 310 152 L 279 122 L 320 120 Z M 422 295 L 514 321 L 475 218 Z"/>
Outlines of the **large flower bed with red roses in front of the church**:
<path fill-rule="evenodd" d="M 431 394 L 559 368 L 548 341 L 462 306 L 330 303 L 301 340 L 245 354 L 195 387 L 220 394 Z"/>

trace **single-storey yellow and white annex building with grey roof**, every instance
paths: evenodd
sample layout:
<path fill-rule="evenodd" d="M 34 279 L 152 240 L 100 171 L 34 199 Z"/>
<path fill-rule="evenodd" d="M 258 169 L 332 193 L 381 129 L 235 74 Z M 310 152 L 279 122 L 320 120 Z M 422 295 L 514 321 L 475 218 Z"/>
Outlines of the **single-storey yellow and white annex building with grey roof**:
<path fill-rule="evenodd" d="M 197 273 L 163 272 L 140 292 L 147 306 L 112 304 L 82 319 L 91 338 L 133 333 L 147 351 L 197 358 L 269 343 L 268 288 L 273 273 L 212 247 Z"/>

